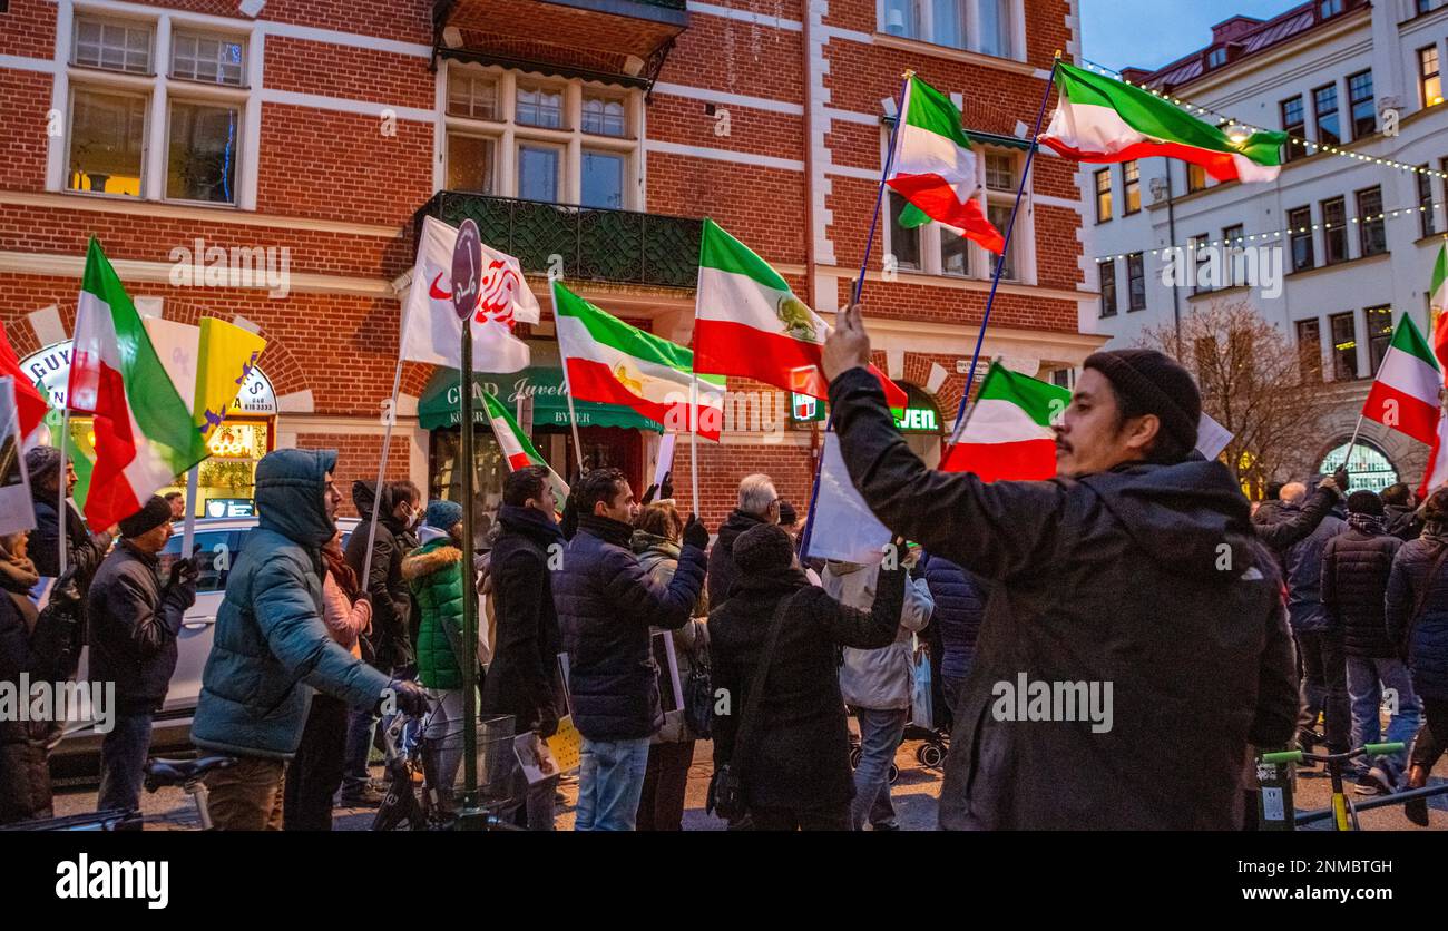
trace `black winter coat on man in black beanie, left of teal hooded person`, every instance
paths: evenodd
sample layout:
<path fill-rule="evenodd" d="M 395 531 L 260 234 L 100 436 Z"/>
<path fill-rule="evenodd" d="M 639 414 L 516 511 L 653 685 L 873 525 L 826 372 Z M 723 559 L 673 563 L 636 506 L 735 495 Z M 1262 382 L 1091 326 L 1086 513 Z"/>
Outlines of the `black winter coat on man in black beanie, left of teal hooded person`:
<path fill-rule="evenodd" d="M 195 584 L 164 589 L 156 557 L 123 540 L 96 570 L 88 598 L 90 679 L 116 683 L 120 714 L 159 711 Z"/>

